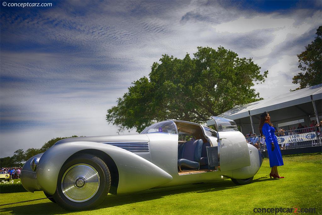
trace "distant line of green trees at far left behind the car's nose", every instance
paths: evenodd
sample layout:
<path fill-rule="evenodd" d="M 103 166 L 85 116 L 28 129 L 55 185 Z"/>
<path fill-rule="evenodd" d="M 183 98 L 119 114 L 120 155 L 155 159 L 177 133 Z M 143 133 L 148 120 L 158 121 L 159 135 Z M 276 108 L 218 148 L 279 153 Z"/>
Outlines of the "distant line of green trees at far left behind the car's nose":
<path fill-rule="evenodd" d="M 71 137 L 78 137 L 76 135 L 73 135 Z M 1 167 L 19 167 L 23 166 L 24 161 L 28 161 L 29 158 L 45 152 L 47 149 L 52 147 L 53 144 L 55 144 L 57 141 L 60 141 L 62 139 L 71 138 L 71 137 L 56 137 L 52 138 L 50 141 L 43 144 L 43 146 L 40 149 L 36 148 L 29 148 L 26 151 L 24 149 L 18 149 L 14 152 L 14 155 L 12 157 L 4 157 L 0 158 L 0 166 Z"/>

